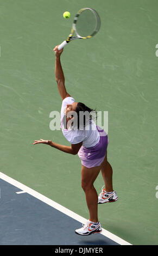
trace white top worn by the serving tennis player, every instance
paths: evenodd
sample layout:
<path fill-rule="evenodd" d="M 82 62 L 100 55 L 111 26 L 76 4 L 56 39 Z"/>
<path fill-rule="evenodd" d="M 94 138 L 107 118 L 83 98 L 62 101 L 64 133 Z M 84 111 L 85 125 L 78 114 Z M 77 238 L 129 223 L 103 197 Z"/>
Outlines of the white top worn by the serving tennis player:
<path fill-rule="evenodd" d="M 90 130 L 73 130 L 70 126 L 68 129 L 64 129 L 62 119 L 65 116 L 64 110 L 67 104 L 72 104 L 75 102 L 73 97 L 66 97 L 62 101 L 61 105 L 61 129 L 64 137 L 67 139 L 68 142 L 71 144 L 77 144 L 83 141 L 83 146 L 86 148 L 94 147 L 99 142 L 100 136 L 97 130 L 96 124 L 92 120 L 92 124 L 90 125 Z"/>

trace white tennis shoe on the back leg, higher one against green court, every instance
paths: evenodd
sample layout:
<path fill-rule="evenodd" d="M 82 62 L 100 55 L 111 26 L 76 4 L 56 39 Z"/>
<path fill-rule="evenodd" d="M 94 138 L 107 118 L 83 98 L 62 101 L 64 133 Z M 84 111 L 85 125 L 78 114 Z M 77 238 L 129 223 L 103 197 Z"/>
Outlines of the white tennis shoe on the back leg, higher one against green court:
<path fill-rule="evenodd" d="M 102 192 L 98 196 L 98 204 L 104 204 L 108 202 L 111 203 L 118 200 L 116 191 L 112 191 L 112 193 L 108 193 L 105 191 L 105 188 L 103 187 L 102 187 Z"/>

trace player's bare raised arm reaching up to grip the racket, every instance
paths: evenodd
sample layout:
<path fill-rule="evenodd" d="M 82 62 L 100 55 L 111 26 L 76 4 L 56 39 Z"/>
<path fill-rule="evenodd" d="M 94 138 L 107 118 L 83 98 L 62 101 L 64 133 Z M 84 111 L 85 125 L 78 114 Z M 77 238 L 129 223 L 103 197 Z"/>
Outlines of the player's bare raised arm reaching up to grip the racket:
<path fill-rule="evenodd" d="M 59 90 L 61 99 L 64 100 L 66 97 L 70 95 L 66 92 L 65 77 L 64 77 L 64 73 L 62 71 L 62 66 L 60 62 L 60 56 L 63 49 L 59 51 L 58 46 L 55 46 L 53 50 L 55 52 L 55 79 L 58 84 L 58 90 Z"/>

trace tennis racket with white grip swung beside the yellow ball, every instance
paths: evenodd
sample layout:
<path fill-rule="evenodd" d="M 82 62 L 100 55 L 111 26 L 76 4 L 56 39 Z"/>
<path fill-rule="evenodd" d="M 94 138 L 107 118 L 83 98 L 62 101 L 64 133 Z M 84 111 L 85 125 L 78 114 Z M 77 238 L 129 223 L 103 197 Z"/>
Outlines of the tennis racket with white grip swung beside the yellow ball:
<path fill-rule="evenodd" d="M 100 28 L 100 17 L 97 11 L 91 8 L 80 9 L 74 17 L 71 33 L 68 38 L 58 46 L 60 51 L 68 42 L 74 39 L 89 39 L 96 35 Z M 75 33 L 75 36 L 73 34 Z"/>

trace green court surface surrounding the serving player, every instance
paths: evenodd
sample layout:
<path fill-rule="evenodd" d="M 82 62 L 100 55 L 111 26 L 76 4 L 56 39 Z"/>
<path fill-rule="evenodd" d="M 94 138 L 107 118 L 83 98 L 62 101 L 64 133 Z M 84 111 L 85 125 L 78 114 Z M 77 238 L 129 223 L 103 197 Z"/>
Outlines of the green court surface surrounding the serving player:
<path fill-rule="evenodd" d="M 102 227 L 133 245 L 157 245 L 158 2 L 156 0 L 0 1 L 0 171 L 89 218 L 78 156 L 34 140 L 69 145 L 51 131 L 60 111 L 52 48 L 83 7 L 96 9 L 99 33 L 65 47 L 66 88 L 76 101 L 109 112 L 108 159 L 119 200 L 98 205 Z M 65 20 L 62 13 L 71 17 Z M 100 193 L 102 175 L 95 182 Z"/>

